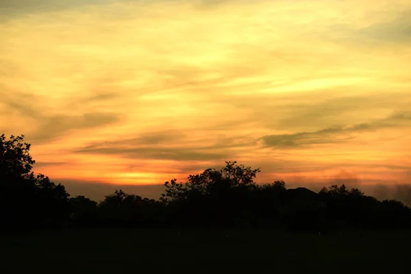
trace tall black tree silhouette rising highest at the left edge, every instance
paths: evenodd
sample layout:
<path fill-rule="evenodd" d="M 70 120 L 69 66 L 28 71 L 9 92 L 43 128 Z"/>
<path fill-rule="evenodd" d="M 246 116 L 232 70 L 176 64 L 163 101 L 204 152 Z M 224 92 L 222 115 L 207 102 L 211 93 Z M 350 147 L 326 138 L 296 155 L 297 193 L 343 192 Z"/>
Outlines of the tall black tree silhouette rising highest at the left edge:
<path fill-rule="evenodd" d="M 30 173 L 35 161 L 23 139 L 0 136 L 0 219 L 12 229 L 62 225 L 70 214 L 69 194 L 49 177 Z"/>

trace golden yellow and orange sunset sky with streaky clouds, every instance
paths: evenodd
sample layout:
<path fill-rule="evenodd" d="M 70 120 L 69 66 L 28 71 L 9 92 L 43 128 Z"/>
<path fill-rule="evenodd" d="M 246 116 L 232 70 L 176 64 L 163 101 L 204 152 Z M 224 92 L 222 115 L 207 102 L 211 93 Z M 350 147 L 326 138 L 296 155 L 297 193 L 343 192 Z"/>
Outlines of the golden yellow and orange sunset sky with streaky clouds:
<path fill-rule="evenodd" d="M 2 0 L 0 36 L 0 132 L 72 195 L 236 160 L 411 199 L 409 0 Z"/>

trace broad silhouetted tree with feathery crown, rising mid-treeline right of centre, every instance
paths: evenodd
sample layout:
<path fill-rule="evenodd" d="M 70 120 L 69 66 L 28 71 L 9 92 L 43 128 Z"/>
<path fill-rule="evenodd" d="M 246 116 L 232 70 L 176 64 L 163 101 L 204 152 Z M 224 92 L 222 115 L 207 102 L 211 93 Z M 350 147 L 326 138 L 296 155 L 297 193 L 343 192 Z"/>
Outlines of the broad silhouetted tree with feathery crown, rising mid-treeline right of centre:
<path fill-rule="evenodd" d="M 160 201 L 169 205 L 173 219 L 187 222 L 190 216 L 191 225 L 221 225 L 243 219 L 249 215 L 252 191 L 257 188 L 253 178 L 260 169 L 236 163 L 228 161 L 221 169 L 189 175 L 184 184 L 176 179 L 165 182 Z"/>

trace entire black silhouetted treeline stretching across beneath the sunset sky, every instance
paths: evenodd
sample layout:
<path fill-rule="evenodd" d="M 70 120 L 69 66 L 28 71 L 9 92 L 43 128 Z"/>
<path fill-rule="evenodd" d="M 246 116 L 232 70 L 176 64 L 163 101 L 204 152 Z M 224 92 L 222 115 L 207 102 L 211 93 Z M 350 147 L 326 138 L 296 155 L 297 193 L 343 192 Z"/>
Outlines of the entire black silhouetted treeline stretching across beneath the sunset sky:
<path fill-rule="evenodd" d="M 377 201 L 358 188 L 287 189 L 284 181 L 257 185 L 260 169 L 225 162 L 187 182 L 164 183 L 159 200 L 116 190 L 97 203 L 70 197 L 62 184 L 34 176 L 30 145 L 0 136 L 0 225 L 43 227 L 261 227 L 312 232 L 336 229 L 411 228 L 411 209 Z"/>

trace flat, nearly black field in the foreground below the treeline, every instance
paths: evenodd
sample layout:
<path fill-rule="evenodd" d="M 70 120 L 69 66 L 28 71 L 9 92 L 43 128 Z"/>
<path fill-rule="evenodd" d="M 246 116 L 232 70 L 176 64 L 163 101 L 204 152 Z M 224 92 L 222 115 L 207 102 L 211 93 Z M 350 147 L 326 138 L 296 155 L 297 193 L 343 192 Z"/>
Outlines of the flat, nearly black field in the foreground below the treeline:
<path fill-rule="evenodd" d="M 411 232 L 72 229 L 1 237 L 0 273 L 411 273 Z"/>

